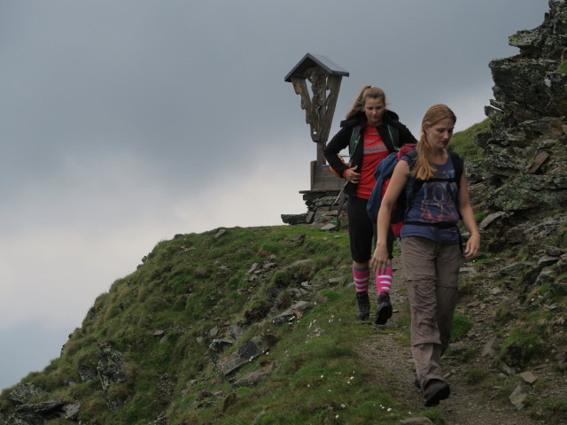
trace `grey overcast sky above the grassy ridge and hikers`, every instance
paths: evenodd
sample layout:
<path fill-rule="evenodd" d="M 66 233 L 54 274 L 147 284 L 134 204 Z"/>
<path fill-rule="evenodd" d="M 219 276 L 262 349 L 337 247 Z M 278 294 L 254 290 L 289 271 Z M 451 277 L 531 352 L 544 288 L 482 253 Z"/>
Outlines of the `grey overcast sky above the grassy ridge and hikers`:
<path fill-rule="evenodd" d="M 283 81 L 309 52 L 415 135 L 485 118 L 488 62 L 547 0 L 0 0 L 0 389 L 58 357 L 160 240 L 305 213 L 309 138 Z"/>

